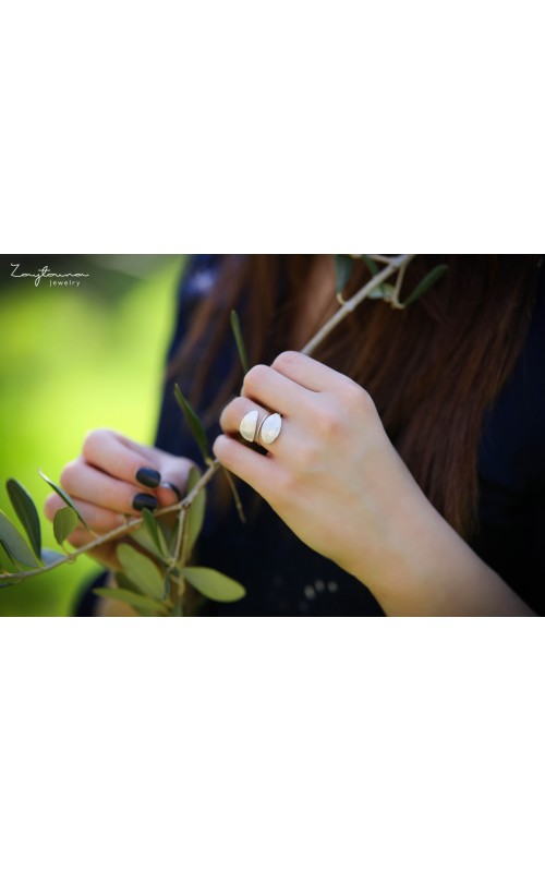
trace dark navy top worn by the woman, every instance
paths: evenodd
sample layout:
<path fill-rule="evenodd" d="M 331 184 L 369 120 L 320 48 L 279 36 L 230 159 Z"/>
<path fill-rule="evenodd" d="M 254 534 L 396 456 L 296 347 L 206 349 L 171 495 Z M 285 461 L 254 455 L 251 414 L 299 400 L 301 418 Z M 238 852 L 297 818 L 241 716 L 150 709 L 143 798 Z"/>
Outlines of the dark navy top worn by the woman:
<path fill-rule="evenodd" d="M 211 289 L 220 257 L 192 257 L 180 283 L 178 318 L 169 358 L 186 334 L 194 306 Z M 542 270 L 543 272 L 543 270 Z M 215 396 L 234 355 L 234 342 L 218 355 L 204 404 Z M 198 362 L 195 363 L 198 365 Z M 187 390 L 192 373 L 178 379 Z M 202 464 L 198 449 L 166 385 L 156 444 Z M 197 410 L 199 411 L 199 410 Z M 210 428 L 210 443 L 219 425 Z M 538 614 L 545 614 L 545 287 L 509 383 L 483 428 L 479 452 L 480 533 L 474 550 Z M 214 485 L 211 483 L 210 487 Z M 238 483 L 244 506 L 253 492 Z M 361 582 L 300 542 L 264 500 L 242 524 L 234 506 L 219 514 L 213 502 L 198 541 L 198 562 L 240 581 L 247 595 L 232 604 L 209 603 L 210 616 L 380 616 Z M 96 582 L 95 582 L 96 583 Z M 89 614 L 89 596 L 78 614 Z"/>

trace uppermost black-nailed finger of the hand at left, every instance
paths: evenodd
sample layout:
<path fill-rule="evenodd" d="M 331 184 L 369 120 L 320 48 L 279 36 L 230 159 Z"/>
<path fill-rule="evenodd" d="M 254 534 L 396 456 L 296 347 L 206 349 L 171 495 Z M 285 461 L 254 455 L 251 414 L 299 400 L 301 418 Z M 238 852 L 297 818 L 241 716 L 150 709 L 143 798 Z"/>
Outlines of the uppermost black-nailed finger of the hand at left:
<path fill-rule="evenodd" d="M 131 484 L 142 484 L 149 488 L 160 485 L 159 470 L 150 467 L 149 460 L 144 455 L 128 448 L 113 431 L 92 431 L 84 441 L 82 453 L 87 463 L 114 479 Z"/>

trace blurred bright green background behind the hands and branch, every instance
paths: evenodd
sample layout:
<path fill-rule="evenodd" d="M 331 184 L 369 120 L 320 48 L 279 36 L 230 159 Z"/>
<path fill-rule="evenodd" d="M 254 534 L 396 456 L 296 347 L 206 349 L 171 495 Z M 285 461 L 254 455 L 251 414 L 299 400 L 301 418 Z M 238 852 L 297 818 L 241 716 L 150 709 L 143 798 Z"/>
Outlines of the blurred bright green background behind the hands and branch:
<path fill-rule="evenodd" d="M 44 546 L 58 548 L 43 505 L 87 431 L 118 429 L 153 441 L 182 255 L 2 255 L 0 257 L 0 509 L 17 525 L 5 492 L 17 479 L 43 519 Z M 88 272 L 80 287 L 13 278 L 48 266 Z M 99 571 L 75 564 L 0 590 L 0 616 L 64 616 Z"/>

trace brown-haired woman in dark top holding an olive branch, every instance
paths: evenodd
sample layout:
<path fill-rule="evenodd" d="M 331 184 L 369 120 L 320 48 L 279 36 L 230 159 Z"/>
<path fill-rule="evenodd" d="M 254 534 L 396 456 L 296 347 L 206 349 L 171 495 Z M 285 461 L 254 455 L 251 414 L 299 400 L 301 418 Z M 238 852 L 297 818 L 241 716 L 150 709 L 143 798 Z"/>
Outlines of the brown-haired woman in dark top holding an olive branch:
<path fill-rule="evenodd" d="M 437 263 L 448 265 L 445 277 L 414 305 L 365 301 L 312 360 L 282 352 L 301 348 L 338 307 L 332 257 L 193 258 L 157 447 L 94 432 L 62 485 L 97 532 L 144 505 L 174 502 L 198 461 L 172 398 L 178 382 L 218 459 L 249 486 L 245 525 L 227 492 L 217 482 L 211 488 L 201 562 L 239 580 L 247 595 L 205 614 L 541 614 L 541 262 L 419 255 L 407 293 Z M 366 278 L 359 262 L 344 295 Z M 231 308 L 251 362 L 269 363 L 253 366 L 242 390 Z M 258 422 L 281 415 L 266 453 L 240 436 L 252 412 Z M 48 516 L 59 507 L 49 497 Z M 87 534 L 71 541 L 82 545 Z M 97 557 L 111 564 L 112 552 Z"/>

